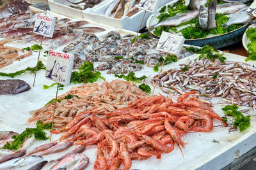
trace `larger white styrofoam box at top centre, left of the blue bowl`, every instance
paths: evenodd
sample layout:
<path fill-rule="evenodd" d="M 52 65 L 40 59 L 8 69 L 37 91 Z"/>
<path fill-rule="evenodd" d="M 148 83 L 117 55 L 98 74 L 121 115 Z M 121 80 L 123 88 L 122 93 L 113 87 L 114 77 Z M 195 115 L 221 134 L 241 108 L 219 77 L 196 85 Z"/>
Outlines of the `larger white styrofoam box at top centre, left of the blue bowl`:
<path fill-rule="evenodd" d="M 108 0 L 106 0 L 108 1 Z M 158 4 L 156 8 L 159 8 L 160 6 L 163 6 L 166 3 L 169 3 L 172 0 L 158 0 Z M 132 15 L 132 17 L 124 17 L 124 18 L 113 18 L 113 17 L 106 17 L 104 16 L 104 13 L 108 6 L 113 1 L 108 1 L 108 3 L 105 4 L 99 4 L 96 8 L 93 8 L 90 11 L 83 11 L 84 19 L 90 20 L 92 22 L 97 22 L 105 25 L 109 25 L 111 27 L 117 27 L 119 29 L 127 29 L 130 31 L 138 31 L 140 28 L 141 20 L 143 18 L 143 15 L 145 11 L 140 10 L 138 13 Z M 151 13 L 147 12 L 145 15 L 145 18 L 143 20 L 143 23 L 141 25 L 141 28 L 145 27 L 147 18 L 151 15 Z"/>

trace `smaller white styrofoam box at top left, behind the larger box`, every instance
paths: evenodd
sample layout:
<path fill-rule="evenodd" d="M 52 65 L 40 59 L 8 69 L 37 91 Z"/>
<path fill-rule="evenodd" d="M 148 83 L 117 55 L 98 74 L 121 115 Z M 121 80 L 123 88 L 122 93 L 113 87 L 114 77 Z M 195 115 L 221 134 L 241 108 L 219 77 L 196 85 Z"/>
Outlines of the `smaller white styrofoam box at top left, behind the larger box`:
<path fill-rule="evenodd" d="M 80 1 L 80 0 L 79 0 Z M 109 0 L 102 1 L 102 3 L 95 5 L 93 8 L 86 8 L 85 10 L 77 10 L 68 5 L 72 4 L 67 0 L 49 0 L 49 7 L 52 12 L 65 15 L 71 18 L 83 18 L 83 11 L 91 11 L 97 6 L 108 3 Z M 78 2 L 78 1 L 77 1 Z"/>

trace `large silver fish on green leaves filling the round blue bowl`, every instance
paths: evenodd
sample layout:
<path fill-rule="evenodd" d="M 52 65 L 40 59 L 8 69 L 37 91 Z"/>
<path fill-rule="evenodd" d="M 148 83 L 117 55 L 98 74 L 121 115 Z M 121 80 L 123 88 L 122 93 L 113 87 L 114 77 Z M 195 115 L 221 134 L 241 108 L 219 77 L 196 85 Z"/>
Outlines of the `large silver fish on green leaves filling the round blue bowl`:
<path fill-rule="evenodd" d="M 187 3 L 179 0 L 163 6 L 148 21 L 148 31 L 156 36 L 167 31 L 186 39 L 207 38 L 239 29 L 252 19 L 246 13 L 248 4 L 239 1 L 223 3 L 219 0 L 190 0 Z"/>

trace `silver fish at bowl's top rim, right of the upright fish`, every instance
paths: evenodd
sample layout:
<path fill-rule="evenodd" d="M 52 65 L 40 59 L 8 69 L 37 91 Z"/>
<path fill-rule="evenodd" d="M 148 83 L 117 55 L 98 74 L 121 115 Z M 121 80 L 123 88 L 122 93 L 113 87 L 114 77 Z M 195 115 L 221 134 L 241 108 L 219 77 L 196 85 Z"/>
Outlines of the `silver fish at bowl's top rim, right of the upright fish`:
<path fill-rule="evenodd" d="M 218 4 L 216 13 L 221 14 L 231 14 L 236 13 L 237 11 L 244 8 L 246 4 L 243 3 L 225 3 L 225 4 Z"/>

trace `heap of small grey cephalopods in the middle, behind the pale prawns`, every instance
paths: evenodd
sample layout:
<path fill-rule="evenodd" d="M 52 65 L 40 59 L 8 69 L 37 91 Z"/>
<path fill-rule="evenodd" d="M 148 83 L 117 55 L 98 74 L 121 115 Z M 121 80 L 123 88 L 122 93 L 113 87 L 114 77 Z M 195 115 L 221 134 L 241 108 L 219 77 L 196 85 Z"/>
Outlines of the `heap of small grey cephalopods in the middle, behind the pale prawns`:
<path fill-rule="evenodd" d="M 148 67 L 160 64 L 160 57 L 166 54 L 155 50 L 158 39 L 137 38 L 132 44 L 131 41 L 134 38 L 135 36 L 131 34 L 121 37 L 120 33 L 111 31 L 100 40 L 95 34 L 84 33 L 79 36 L 79 40 L 65 46 L 63 52 L 75 55 L 74 67 L 76 68 L 86 61 L 99 62 L 95 69 L 106 70 L 108 74 L 140 71 L 143 65 L 137 63 L 138 61 L 145 63 Z M 178 59 L 189 54 L 183 48 Z M 116 56 L 120 59 L 116 59 Z"/>

